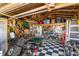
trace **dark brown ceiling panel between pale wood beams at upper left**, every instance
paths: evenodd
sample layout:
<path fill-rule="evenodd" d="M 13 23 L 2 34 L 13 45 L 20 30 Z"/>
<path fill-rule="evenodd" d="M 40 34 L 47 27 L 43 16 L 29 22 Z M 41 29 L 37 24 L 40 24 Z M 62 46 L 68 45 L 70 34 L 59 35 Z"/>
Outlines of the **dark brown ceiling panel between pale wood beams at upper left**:
<path fill-rule="evenodd" d="M 31 4 L 25 5 L 23 7 L 17 8 L 17 9 L 15 9 L 13 11 L 9 11 L 6 14 L 13 16 L 13 15 L 25 12 L 25 11 L 29 11 L 29 10 L 41 7 L 43 5 L 44 5 L 44 3 L 34 3 L 34 4 L 31 3 Z"/>

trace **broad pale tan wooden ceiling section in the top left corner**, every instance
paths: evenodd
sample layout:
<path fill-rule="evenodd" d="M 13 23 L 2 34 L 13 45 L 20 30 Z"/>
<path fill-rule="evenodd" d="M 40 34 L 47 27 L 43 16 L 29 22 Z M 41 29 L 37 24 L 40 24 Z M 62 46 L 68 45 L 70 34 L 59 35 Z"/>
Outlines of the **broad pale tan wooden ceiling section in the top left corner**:
<path fill-rule="evenodd" d="M 10 11 L 13 11 L 13 10 L 15 10 L 15 9 L 17 9 L 19 7 L 22 7 L 22 6 L 26 5 L 26 4 L 29 4 L 29 3 L 8 4 L 8 5 L 5 5 L 4 7 L 2 7 L 0 9 L 0 12 L 2 12 L 2 13 L 10 12 Z"/>

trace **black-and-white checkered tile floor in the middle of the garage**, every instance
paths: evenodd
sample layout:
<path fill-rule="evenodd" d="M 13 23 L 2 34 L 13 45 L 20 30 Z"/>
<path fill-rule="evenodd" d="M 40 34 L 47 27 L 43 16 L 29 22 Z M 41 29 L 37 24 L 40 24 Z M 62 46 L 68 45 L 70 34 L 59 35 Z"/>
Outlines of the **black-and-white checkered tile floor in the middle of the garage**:
<path fill-rule="evenodd" d="M 35 55 L 35 53 L 33 54 Z M 64 48 L 56 42 L 46 42 L 44 46 L 39 47 L 38 56 L 64 56 Z"/>

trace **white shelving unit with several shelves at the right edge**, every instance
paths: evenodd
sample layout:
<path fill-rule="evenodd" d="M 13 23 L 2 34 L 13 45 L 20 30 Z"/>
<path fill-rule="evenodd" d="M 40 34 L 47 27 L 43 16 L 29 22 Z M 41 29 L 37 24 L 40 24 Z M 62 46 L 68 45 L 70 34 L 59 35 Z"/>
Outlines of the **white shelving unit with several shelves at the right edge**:
<path fill-rule="evenodd" d="M 79 41 L 79 24 L 71 24 L 70 23 L 70 25 L 69 25 L 69 40 Z"/>

